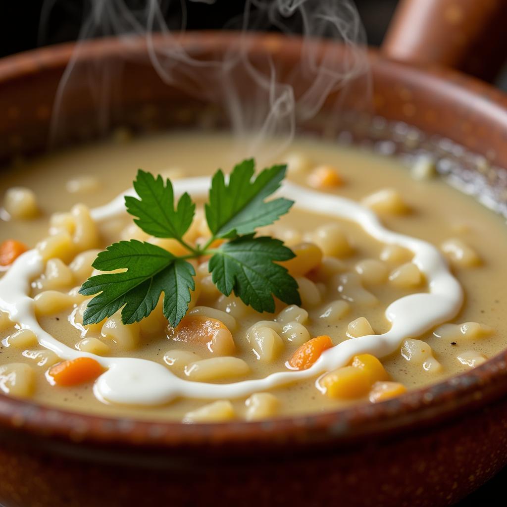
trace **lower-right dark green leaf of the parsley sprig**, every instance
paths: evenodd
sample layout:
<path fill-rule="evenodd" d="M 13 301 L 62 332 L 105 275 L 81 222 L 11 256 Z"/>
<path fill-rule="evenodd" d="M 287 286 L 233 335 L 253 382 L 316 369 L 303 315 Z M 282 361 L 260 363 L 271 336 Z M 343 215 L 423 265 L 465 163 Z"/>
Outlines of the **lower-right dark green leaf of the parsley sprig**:
<path fill-rule="evenodd" d="M 294 253 L 278 239 L 252 234 L 224 243 L 209 260 L 211 279 L 219 291 L 232 291 L 258 312 L 275 311 L 273 294 L 287 304 L 301 304 L 296 280 L 273 261 L 292 259 Z"/>

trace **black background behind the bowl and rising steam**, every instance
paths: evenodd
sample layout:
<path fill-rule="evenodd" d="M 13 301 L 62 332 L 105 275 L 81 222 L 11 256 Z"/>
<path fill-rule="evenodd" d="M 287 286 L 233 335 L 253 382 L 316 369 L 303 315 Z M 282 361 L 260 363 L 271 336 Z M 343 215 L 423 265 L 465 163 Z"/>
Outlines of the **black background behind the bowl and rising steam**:
<path fill-rule="evenodd" d="M 164 0 L 162 0 L 163 2 Z M 507 1 L 507 0 L 505 0 Z M 477 0 L 482 2 L 482 0 Z M 80 32 L 83 16 L 89 2 L 87 0 L 49 0 L 51 15 L 39 25 L 43 11 L 43 0 L 3 0 L 0 7 L 0 56 L 7 56 L 41 45 L 57 44 L 75 40 Z M 54 5 L 53 5 L 54 4 Z M 129 5 L 142 5 L 133 0 Z M 176 2 L 177 4 L 177 2 Z M 365 25 L 370 45 L 382 43 L 387 25 L 397 0 L 355 0 L 359 15 Z M 188 29 L 223 28 L 227 22 L 243 11 L 244 2 L 239 0 L 216 0 L 213 5 L 187 3 Z M 507 89 L 507 73 L 500 77 L 497 85 Z M 504 470 L 476 493 L 459 503 L 459 507 L 489 507 L 507 505 L 503 483 L 507 482 Z"/>

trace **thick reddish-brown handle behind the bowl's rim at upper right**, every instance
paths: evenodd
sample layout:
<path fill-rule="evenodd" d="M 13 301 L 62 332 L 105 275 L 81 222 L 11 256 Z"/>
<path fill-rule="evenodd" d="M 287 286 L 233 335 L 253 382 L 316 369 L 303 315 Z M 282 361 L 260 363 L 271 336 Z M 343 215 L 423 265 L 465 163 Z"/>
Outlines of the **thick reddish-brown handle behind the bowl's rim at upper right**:
<path fill-rule="evenodd" d="M 507 0 L 401 0 L 382 50 L 490 81 L 507 54 Z"/>

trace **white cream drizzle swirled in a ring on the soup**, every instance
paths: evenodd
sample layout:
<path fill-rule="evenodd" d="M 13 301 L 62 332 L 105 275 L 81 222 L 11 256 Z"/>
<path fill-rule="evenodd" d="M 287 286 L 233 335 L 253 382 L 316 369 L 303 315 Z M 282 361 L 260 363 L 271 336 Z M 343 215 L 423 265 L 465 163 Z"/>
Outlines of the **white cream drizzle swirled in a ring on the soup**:
<path fill-rule="evenodd" d="M 198 177 L 176 180 L 174 193 L 189 192 L 205 197 L 210 178 Z M 106 371 L 95 382 L 94 392 L 99 400 L 124 405 L 160 405 L 177 397 L 199 399 L 233 399 L 253 392 L 272 389 L 298 380 L 315 378 L 324 372 L 340 368 L 356 354 L 370 353 L 377 357 L 394 352 L 402 340 L 416 337 L 434 326 L 453 318 L 463 302 L 463 291 L 450 273 L 440 252 L 430 243 L 395 233 L 383 227 L 375 213 L 360 204 L 330 194 L 315 192 L 285 182 L 282 190 L 296 201 L 296 206 L 336 218 L 351 220 L 375 239 L 397 244 L 414 252 L 414 262 L 428 282 L 428 293 L 411 294 L 391 303 L 385 316 L 391 329 L 382 335 L 369 335 L 345 340 L 328 349 L 308 370 L 283 371 L 265 378 L 229 384 L 193 382 L 174 375 L 155 361 L 130 357 L 102 357 L 70 348 L 44 331 L 35 318 L 33 299 L 29 297 L 30 280 L 41 274 L 44 262 L 37 250 L 20 256 L 0 280 L 0 309 L 7 311 L 22 328 L 31 329 L 46 347 L 62 359 L 88 356 L 96 359 Z M 111 219 L 125 212 L 124 196 L 129 190 L 105 206 L 92 210 L 95 221 Z M 318 382 L 316 381 L 318 387 Z"/>

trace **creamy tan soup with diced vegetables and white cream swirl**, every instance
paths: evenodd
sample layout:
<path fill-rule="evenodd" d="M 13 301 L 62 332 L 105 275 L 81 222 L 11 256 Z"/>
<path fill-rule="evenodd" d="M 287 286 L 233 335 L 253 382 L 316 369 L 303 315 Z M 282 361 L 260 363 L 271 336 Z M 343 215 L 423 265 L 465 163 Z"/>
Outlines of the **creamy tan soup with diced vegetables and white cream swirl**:
<path fill-rule="evenodd" d="M 131 238 L 180 248 L 149 237 L 125 212 L 121 194 L 137 169 L 170 177 L 176 193 L 202 203 L 209 176 L 237 162 L 231 153 L 226 135 L 158 135 L 3 171 L 5 393 L 103 415 L 258 420 L 379 403 L 504 348 L 503 220 L 444 184 L 429 162 L 408 170 L 309 139 L 262 161 L 288 163 L 279 193 L 296 204 L 262 232 L 296 254 L 285 265 L 301 307 L 278 301 L 275 313 L 257 313 L 221 295 L 200 259 L 176 329 L 161 304 L 139 323 L 115 314 L 82 325 L 91 298 L 78 289 L 100 250 Z M 207 236 L 201 208 L 186 237 Z M 18 242 L 28 249 L 19 257 Z M 81 357 L 93 359 L 95 373 L 55 382 L 55 367 Z"/>

